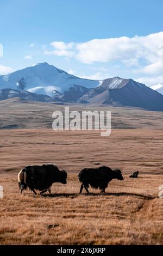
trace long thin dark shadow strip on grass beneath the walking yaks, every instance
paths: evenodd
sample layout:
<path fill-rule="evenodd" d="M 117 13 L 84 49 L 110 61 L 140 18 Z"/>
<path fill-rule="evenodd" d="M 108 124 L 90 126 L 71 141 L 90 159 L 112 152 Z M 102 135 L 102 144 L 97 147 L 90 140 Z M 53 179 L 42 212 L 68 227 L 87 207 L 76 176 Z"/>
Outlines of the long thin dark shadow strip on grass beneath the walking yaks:
<path fill-rule="evenodd" d="M 86 196 L 86 197 L 101 197 L 101 196 L 116 196 L 116 197 L 123 197 L 123 196 L 133 196 L 133 197 L 139 197 L 145 200 L 151 200 L 154 199 L 152 196 L 145 196 L 143 194 L 136 194 L 136 193 L 126 193 L 126 192 L 120 192 L 120 193 L 55 193 L 55 194 L 43 194 L 41 197 L 68 197 L 68 198 L 76 198 L 79 196 Z"/>

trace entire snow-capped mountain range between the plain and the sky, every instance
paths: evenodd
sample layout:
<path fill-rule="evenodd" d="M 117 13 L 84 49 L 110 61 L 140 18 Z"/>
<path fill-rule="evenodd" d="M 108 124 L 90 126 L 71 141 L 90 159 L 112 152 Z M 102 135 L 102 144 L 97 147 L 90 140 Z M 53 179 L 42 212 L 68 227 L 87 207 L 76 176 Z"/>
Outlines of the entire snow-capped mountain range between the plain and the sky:
<path fill-rule="evenodd" d="M 149 88 L 120 77 L 87 80 L 47 63 L 0 76 L 0 100 L 21 97 L 30 101 L 105 104 L 163 111 L 163 95 L 157 92 L 161 89 L 162 84 Z"/>

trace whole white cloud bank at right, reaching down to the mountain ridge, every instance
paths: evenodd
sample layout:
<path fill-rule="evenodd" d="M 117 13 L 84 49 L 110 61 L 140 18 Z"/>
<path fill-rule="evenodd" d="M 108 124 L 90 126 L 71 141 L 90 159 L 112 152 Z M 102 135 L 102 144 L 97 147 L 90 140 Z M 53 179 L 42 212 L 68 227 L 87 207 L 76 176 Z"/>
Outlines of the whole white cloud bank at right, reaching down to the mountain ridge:
<path fill-rule="evenodd" d="M 75 58 L 84 64 L 119 62 L 140 82 L 163 82 L 163 32 L 78 43 L 54 41 L 51 46 L 53 50 L 45 54 Z"/>

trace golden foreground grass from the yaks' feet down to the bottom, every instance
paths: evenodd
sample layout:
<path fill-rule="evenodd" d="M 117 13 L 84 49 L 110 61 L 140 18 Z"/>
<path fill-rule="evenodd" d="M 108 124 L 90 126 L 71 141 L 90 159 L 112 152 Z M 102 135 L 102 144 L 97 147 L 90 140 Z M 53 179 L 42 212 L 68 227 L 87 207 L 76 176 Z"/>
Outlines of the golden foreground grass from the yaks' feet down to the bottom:
<path fill-rule="evenodd" d="M 161 245 L 163 204 L 161 175 L 112 180 L 105 194 L 78 194 L 77 173 L 67 185 L 53 184 L 50 197 L 18 194 L 17 174 L 4 173 L 0 185 L 1 245 Z M 47 228 L 48 225 L 54 225 Z"/>

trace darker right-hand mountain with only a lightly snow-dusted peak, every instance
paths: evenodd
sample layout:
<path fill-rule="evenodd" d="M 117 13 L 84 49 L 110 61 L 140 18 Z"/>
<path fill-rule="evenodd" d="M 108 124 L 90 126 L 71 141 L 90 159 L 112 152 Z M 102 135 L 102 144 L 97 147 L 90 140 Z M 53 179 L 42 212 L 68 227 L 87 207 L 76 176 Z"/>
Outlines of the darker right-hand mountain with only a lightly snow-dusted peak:
<path fill-rule="evenodd" d="M 120 77 L 105 79 L 100 86 L 92 88 L 80 100 L 93 105 L 139 107 L 151 111 L 163 111 L 163 96 L 132 79 Z"/>

